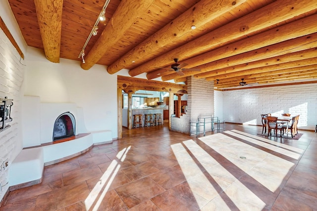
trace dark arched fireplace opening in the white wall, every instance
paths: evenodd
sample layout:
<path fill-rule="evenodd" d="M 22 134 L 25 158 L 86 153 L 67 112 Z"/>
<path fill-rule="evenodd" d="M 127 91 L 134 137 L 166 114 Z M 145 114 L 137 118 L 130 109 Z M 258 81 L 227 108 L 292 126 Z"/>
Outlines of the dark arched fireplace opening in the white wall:
<path fill-rule="evenodd" d="M 54 123 L 53 141 L 75 135 L 75 117 L 69 112 L 61 114 Z"/>

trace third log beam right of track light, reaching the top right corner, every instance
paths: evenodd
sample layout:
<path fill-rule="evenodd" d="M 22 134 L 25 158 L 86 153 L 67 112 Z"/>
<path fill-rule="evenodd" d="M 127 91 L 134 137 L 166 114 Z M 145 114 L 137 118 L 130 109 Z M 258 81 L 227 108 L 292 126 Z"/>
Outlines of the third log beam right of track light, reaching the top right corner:
<path fill-rule="evenodd" d="M 202 64 L 202 60 L 209 59 L 207 57 L 199 58 L 197 60 L 185 60 L 192 55 L 201 54 L 202 52 L 209 51 L 223 45 L 230 40 L 243 39 L 244 36 L 250 35 L 257 30 L 262 30 L 274 24 L 286 21 L 294 16 L 311 11 L 316 7 L 316 3 L 311 0 L 296 1 L 294 0 L 277 0 L 271 4 L 264 6 L 248 15 L 245 15 L 236 21 L 232 21 L 227 25 L 220 27 L 194 41 L 188 42 L 181 47 L 169 51 L 155 60 L 144 63 L 137 68 L 129 71 L 130 76 L 136 76 L 144 72 L 153 70 L 153 67 L 165 67 L 171 64 L 170 58 L 178 55 L 182 62 L 190 64 L 186 67 L 195 67 Z M 269 13 L 267 11 L 270 11 Z M 206 47 L 208 46 L 208 48 Z M 228 49 L 227 49 L 228 51 Z M 230 49 L 231 51 L 231 49 Z M 233 51 L 235 51 L 233 49 Z M 224 52 L 226 53 L 226 52 Z M 219 59 L 218 55 L 218 59 Z M 214 61 L 215 57 L 212 56 L 210 61 Z"/>

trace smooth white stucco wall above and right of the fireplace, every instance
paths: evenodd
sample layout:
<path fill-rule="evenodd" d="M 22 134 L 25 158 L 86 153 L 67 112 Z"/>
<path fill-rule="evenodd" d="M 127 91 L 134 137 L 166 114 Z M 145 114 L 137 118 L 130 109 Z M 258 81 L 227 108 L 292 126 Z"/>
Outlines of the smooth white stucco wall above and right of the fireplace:
<path fill-rule="evenodd" d="M 117 137 L 117 76 L 105 66 L 86 71 L 79 61 L 52 63 L 40 49 L 29 47 L 24 95 L 39 96 L 46 103 L 75 103 L 83 108 L 88 131 L 111 130 Z"/>

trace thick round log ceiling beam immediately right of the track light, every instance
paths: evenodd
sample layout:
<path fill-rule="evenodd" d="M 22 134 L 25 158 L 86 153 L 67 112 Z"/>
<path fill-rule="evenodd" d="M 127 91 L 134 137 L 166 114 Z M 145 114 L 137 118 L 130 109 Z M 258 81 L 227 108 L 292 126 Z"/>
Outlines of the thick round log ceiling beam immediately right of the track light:
<path fill-rule="evenodd" d="M 103 55 L 120 40 L 125 31 L 135 23 L 153 1 L 154 0 L 122 0 L 100 38 L 85 57 L 86 62 L 81 63 L 81 67 L 84 70 L 89 70 L 94 66 Z"/>

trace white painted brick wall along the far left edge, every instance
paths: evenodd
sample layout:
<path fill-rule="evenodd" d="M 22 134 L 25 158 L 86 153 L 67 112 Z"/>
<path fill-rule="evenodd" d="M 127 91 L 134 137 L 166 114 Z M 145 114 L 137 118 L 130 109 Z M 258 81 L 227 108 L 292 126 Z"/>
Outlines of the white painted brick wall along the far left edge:
<path fill-rule="evenodd" d="M 21 63 L 24 60 L 21 59 Z M 12 160 L 22 149 L 21 138 L 21 86 L 23 83 L 24 66 L 20 63 L 20 55 L 0 30 L 0 97 L 7 96 L 13 99 L 11 107 L 12 122 L 8 129 L 0 132 L 0 164 L 6 159 L 9 161 L 9 168 Z M 0 201 L 9 187 L 8 169 L 0 171 Z"/>

